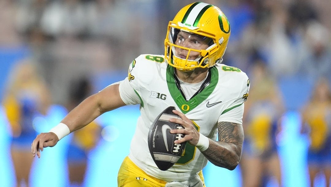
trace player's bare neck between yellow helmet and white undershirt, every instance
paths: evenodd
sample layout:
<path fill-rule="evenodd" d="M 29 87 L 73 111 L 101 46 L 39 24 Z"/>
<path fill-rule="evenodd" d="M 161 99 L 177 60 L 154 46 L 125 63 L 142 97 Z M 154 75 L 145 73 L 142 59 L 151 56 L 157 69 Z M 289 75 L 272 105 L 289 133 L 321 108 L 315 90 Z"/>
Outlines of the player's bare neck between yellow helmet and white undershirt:
<path fill-rule="evenodd" d="M 203 81 L 208 72 L 208 68 L 197 68 L 193 71 L 180 71 L 175 69 L 178 78 L 186 83 L 194 84 Z"/>

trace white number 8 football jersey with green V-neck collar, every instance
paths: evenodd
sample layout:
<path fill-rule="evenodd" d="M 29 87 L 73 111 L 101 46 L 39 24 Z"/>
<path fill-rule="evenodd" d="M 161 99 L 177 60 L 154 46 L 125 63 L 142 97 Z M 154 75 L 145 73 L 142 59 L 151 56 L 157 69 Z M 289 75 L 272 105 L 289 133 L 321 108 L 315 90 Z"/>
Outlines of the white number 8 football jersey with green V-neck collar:
<path fill-rule="evenodd" d="M 203 135 L 216 140 L 217 122 L 242 124 L 244 101 L 249 79 L 241 70 L 217 64 L 210 68 L 211 77 L 205 88 L 190 100 L 184 99 L 174 79 L 174 68 L 162 55 L 140 55 L 129 67 L 128 77 L 120 81 L 123 102 L 140 104 L 129 158 L 147 174 L 169 181 L 185 181 L 202 170 L 208 160 L 195 146 L 186 144 L 184 154 L 167 171 L 154 163 L 148 148 L 148 132 L 155 118 L 167 107 L 174 106 L 194 123 Z"/>

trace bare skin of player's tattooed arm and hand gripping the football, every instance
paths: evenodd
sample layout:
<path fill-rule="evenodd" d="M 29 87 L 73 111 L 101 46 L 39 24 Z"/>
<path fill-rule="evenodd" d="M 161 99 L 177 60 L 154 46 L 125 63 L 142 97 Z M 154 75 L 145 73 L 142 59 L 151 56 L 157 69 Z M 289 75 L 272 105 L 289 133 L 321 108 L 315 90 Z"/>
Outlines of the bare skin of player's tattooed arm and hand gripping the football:
<path fill-rule="evenodd" d="M 172 112 L 181 118 L 172 118 L 169 120 L 183 125 L 184 129 L 172 129 L 170 132 L 185 134 L 182 139 L 176 140 L 175 143 L 180 144 L 187 141 L 191 145 L 196 146 L 201 134 L 196 130 L 192 121 L 177 110 L 173 110 Z M 241 158 L 244 142 L 243 126 L 234 122 L 221 121 L 218 122 L 217 128 L 218 141 L 208 138 L 209 146 L 206 150 L 201 151 L 201 153 L 214 165 L 233 170 L 237 167 Z"/>

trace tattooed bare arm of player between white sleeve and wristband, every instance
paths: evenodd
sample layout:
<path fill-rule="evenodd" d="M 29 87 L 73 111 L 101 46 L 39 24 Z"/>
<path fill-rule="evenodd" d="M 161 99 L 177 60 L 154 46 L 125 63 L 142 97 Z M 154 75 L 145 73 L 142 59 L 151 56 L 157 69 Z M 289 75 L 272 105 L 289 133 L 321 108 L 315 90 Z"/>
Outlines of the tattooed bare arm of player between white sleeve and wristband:
<path fill-rule="evenodd" d="M 218 142 L 210 141 L 209 148 L 202 153 L 213 164 L 234 169 L 240 160 L 244 131 L 241 124 L 218 123 Z"/>

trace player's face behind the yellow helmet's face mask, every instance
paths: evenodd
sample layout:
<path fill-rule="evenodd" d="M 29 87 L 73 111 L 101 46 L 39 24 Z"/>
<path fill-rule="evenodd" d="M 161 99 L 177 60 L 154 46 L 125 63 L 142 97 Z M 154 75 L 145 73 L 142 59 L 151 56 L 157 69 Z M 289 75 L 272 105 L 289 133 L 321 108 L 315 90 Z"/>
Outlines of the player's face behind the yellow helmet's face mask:
<path fill-rule="evenodd" d="M 207 41 L 204 40 L 203 37 L 183 31 L 179 31 L 175 44 L 196 50 L 205 50 L 209 47 Z M 188 50 L 175 47 L 175 51 L 177 57 L 181 59 L 186 59 Z M 196 58 L 198 58 L 199 55 L 200 54 L 198 52 L 191 51 L 188 60 L 195 60 Z"/>

